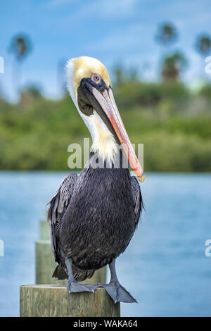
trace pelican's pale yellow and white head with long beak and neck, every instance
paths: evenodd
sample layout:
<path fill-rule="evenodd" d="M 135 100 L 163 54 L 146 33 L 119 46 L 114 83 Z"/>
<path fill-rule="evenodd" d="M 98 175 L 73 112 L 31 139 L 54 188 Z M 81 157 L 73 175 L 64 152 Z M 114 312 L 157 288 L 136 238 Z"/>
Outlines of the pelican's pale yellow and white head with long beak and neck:
<path fill-rule="evenodd" d="M 143 182 L 144 175 L 115 104 L 108 71 L 96 58 L 71 58 L 66 65 L 68 91 L 86 123 L 93 144 L 91 150 L 113 161 L 122 145 L 132 170 Z"/>

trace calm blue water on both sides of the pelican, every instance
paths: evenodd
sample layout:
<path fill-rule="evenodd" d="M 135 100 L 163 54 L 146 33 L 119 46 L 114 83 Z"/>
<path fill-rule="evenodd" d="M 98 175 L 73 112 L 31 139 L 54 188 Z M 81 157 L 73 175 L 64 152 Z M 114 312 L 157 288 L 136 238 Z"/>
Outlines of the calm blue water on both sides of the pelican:
<path fill-rule="evenodd" d="M 19 286 L 34 283 L 34 242 L 65 173 L 0 173 L 0 316 L 19 315 Z M 117 260 L 139 301 L 122 316 L 211 316 L 211 175 L 147 174 L 142 222 Z"/>

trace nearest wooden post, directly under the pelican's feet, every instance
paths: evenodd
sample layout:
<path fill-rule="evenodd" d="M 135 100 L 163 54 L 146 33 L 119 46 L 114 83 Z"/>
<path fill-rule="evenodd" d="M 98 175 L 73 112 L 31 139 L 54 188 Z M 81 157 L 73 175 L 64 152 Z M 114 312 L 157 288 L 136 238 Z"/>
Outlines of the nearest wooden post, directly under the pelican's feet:
<path fill-rule="evenodd" d="M 68 293 L 58 285 L 20 286 L 20 317 L 120 317 L 106 289 Z"/>

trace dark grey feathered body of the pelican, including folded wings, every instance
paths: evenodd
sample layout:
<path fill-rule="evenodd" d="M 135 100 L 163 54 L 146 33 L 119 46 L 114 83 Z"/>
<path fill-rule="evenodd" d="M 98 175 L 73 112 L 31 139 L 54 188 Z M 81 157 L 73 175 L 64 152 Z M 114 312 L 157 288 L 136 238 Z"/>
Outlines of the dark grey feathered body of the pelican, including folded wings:
<path fill-rule="evenodd" d="M 58 263 L 53 277 L 68 277 L 65 258 L 71 258 L 77 281 L 127 248 L 143 206 L 138 180 L 122 168 L 70 173 L 50 204 L 51 246 Z"/>

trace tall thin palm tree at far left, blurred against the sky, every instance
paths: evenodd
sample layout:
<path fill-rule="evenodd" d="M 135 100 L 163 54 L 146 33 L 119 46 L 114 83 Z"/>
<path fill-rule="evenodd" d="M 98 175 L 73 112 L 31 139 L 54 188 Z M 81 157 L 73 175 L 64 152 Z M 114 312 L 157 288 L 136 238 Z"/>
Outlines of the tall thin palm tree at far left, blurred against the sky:
<path fill-rule="evenodd" d="M 32 46 L 30 38 L 26 35 L 15 35 L 11 40 L 9 51 L 15 55 L 15 63 L 13 67 L 13 82 L 16 89 L 19 88 L 21 80 L 20 64 L 23 62 L 27 54 L 31 51 Z"/>

